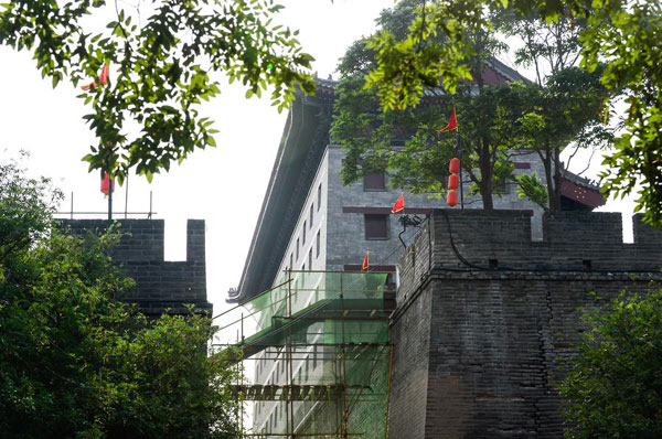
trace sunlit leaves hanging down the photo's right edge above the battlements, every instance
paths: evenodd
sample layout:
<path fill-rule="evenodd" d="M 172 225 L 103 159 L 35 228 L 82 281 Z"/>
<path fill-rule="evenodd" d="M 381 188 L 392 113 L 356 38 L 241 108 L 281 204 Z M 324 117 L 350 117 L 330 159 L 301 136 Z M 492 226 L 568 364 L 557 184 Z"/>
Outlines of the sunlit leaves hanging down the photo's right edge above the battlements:
<path fill-rule="evenodd" d="M 662 226 L 662 4 L 660 2 L 597 2 L 583 35 L 584 66 L 595 68 L 606 58 L 602 83 L 627 97 L 624 132 L 616 151 L 605 157 L 605 189 L 626 195 L 640 183 L 636 211 Z"/>

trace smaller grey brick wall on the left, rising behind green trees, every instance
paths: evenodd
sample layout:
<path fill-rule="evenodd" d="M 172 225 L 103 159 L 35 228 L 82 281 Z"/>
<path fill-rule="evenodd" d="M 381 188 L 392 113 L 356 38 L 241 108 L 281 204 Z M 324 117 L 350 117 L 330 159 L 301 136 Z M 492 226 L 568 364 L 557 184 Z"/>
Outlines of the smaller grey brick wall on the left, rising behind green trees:
<path fill-rule="evenodd" d="M 65 231 L 74 235 L 98 234 L 108 227 L 104 220 L 62 220 Z M 150 315 L 167 310 L 184 312 L 184 304 L 211 312 L 206 298 L 204 221 L 189 220 L 186 224 L 186 260 L 166 261 L 163 257 L 162 220 L 121 220 L 115 222 L 125 235 L 111 251 L 111 257 L 130 278 L 136 288 L 120 299 L 137 303 Z"/>

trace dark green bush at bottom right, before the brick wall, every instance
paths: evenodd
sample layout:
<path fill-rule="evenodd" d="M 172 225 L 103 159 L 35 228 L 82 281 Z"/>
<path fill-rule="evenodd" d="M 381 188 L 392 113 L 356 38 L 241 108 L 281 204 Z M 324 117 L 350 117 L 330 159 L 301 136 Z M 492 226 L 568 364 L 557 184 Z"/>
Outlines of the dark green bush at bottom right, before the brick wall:
<path fill-rule="evenodd" d="M 589 325 L 560 386 L 568 438 L 662 436 L 662 291 L 585 314 Z"/>

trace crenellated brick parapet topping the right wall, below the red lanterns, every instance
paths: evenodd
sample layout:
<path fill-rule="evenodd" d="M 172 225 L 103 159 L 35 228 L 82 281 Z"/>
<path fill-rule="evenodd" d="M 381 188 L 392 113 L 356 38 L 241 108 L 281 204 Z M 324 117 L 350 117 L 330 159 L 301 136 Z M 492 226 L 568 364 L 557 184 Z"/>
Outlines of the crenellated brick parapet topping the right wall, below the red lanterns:
<path fill-rule="evenodd" d="M 401 283 L 428 270 L 659 272 L 662 232 L 641 218 L 634 243 L 623 243 L 620 213 L 545 214 L 535 242 L 531 211 L 435 210 L 401 260 Z"/>

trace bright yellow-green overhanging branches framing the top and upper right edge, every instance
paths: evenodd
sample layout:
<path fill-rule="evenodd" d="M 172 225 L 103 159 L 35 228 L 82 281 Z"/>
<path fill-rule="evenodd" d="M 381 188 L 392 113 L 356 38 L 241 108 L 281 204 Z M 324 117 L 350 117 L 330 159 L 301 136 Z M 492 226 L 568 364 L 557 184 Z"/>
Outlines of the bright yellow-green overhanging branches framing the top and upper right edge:
<path fill-rule="evenodd" d="M 511 8 L 521 17 L 533 14 L 547 23 L 558 23 L 562 17 L 570 23 L 581 21 L 580 66 L 595 72 L 600 62 L 606 63 L 602 85 L 629 104 L 624 132 L 616 139 L 616 151 L 604 160 L 609 167 L 601 174 L 606 192 L 623 196 L 640 182 L 637 210 L 644 211 L 645 222 L 662 225 L 660 2 L 433 0 L 421 4 L 403 39 L 382 32 L 371 41 L 377 65 L 367 84 L 377 90 L 384 108 L 417 105 L 424 87 L 439 77 L 455 93 L 461 79 L 471 77 L 467 65 L 473 43 L 465 35 L 489 25 L 490 13 Z"/>

